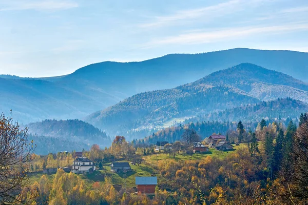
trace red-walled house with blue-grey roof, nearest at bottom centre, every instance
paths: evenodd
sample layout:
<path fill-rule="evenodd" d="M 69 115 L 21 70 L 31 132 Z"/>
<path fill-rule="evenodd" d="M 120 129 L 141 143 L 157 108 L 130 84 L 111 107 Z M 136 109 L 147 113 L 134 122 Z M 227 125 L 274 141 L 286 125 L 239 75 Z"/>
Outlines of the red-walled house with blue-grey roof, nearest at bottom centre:
<path fill-rule="evenodd" d="M 154 194 L 157 186 L 157 177 L 136 177 L 136 185 L 138 192 L 143 194 Z"/>

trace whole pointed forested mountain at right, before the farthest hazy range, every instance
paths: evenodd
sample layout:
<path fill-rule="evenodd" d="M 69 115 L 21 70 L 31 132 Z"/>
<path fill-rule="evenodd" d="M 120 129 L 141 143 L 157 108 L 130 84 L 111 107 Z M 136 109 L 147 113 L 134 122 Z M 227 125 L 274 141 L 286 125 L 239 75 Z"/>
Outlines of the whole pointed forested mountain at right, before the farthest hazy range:
<path fill-rule="evenodd" d="M 107 133 L 123 134 L 162 128 L 178 118 L 255 104 L 260 100 L 292 97 L 307 102 L 307 90 L 308 85 L 303 81 L 245 63 L 174 89 L 134 95 L 91 114 L 86 121 L 98 128 L 106 128 Z"/>

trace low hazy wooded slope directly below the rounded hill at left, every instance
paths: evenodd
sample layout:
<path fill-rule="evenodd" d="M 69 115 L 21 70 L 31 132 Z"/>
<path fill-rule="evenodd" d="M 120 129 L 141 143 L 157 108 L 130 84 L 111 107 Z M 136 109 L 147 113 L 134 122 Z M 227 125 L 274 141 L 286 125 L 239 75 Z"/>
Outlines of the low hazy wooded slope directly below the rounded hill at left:
<path fill-rule="evenodd" d="M 83 149 L 89 150 L 90 145 L 76 141 L 74 139 L 63 137 L 49 137 L 43 135 L 29 134 L 28 139 L 33 140 L 35 145 L 35 154 L 47 155 L 48 153 L 57 153 L 61 151 L 82 151 Z"/>

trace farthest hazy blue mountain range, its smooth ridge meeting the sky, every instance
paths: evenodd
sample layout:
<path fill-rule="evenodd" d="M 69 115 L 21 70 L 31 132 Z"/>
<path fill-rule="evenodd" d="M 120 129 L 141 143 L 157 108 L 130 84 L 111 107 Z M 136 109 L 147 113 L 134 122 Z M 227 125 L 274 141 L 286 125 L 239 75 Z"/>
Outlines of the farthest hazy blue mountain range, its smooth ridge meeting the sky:
<path fill-rule="evenodd" d="M 1 75 L 0 111 L 7 113 L 12 109 L 14 119 L 23 123 L 45 118 L 82 118 L 134 94 L 174 88 L 245 62 L 280 71 L 301 80 L 308 79 L 308 53 L 303 52 L 238 48 L 201 54 L 170 54 L 141 62 L 106 61 L 64 76 L 19 78 Z M 273 92 L 278 95 L 279 90 L 286 85 L 267 86 L 272 87 Z M 268 89 L 266 92 L 255 91 L 260 87 L 263 87 L 263 84 L 258 82 L 252 85 L 253 89 L 249 94 L 260 99 L 264 99 L 262 95 L 272 95 L 266 94 Z M 293 88 L 286 94 L 299 95 L 303 89 L 299 85 Z"/>

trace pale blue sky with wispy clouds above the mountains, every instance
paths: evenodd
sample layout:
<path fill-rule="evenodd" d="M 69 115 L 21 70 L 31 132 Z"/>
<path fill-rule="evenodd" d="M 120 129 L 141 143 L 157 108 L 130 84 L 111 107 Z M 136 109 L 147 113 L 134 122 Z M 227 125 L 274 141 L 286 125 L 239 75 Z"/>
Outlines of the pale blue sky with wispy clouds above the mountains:
<path fill-rule="evenodd" d="M 230 48 L 308 52 L 307 0 L 0 0 L 0 74 Z"/>

